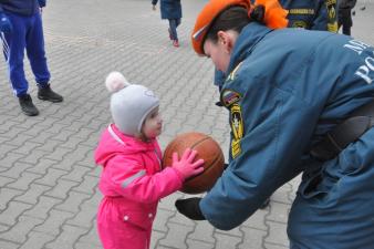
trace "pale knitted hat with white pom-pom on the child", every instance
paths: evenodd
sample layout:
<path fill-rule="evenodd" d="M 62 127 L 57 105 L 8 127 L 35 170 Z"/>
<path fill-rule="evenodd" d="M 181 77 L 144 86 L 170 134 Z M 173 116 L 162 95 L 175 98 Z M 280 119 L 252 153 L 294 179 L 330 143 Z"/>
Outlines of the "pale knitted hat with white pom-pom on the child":
<path fill-rule="evenodd" d="M 141 133 L 146 116 L 159 105 L 155 94 L 143 85 L 129 84 L 118 72 L 105 80 L 111 96 L 111 113 L 117 128 L 131 136 Z"/>

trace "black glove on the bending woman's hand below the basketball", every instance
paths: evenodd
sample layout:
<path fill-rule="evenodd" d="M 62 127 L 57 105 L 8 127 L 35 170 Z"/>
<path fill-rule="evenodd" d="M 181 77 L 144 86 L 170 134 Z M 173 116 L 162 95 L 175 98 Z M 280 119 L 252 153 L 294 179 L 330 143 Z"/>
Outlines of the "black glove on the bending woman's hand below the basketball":
<path fill-rule="evenodd" d="M 205 220 L 202 212 L 199 207 L 201 198 L 193 197 L 188 199 L 177 199 L 175 201 L 175 206 L 177 207 L 178 211 L 186 216 L 189 219 L 194 220 Z"/>

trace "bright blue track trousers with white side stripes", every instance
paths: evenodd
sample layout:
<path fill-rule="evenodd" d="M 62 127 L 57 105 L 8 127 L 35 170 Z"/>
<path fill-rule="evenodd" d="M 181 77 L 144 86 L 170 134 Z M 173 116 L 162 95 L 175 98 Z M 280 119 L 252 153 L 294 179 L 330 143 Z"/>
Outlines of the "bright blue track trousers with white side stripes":
<path fill-rule="evenodd" d="M 44 51 L 43 27 L 40 12 L 25 17 L 6 12 L 13 31 L 3 38 L 3 51 L 8 63 L 9 77 L 17 96 L 28 93 L 29 84 L 24 75 L 24 49 L 30 61 L 31 70 L 40 86 L 50 81 Z"/>

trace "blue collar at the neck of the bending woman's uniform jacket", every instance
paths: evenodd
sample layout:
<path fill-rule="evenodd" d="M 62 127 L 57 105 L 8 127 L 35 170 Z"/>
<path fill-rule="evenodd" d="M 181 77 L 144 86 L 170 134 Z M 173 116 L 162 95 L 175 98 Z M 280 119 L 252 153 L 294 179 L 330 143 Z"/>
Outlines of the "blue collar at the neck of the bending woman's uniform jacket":
<path fill-rule="evenodd" d="M 252 52 L 256 44 L 271 31 L 273 30 L 260 23 L 248 23 L 248 25 L 241 30 L 235 43 L 226 75 L 229 75 L 230 72 Z"/>

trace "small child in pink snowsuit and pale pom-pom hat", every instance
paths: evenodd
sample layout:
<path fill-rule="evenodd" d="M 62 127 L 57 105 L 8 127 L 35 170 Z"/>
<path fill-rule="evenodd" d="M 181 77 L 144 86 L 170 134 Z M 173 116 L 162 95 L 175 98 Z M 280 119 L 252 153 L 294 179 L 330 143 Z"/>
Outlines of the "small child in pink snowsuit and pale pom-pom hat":
<path fill-rule="evenodd" d="M 196 151 L 162 170 L 156 137 L 162 133 L 159 100 L 143 85 L 129 84 L 113 72 L 106 77 L 114 124 L 102 134 L 95 162 L 103 166 L 98 188 L 104 195 L 97 212 L 98 236 L 105 249 L 149 248 L 152 224 L 160 198 L 202 172 Z"/>

